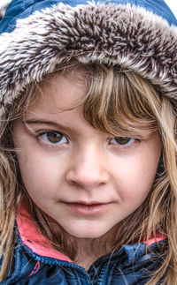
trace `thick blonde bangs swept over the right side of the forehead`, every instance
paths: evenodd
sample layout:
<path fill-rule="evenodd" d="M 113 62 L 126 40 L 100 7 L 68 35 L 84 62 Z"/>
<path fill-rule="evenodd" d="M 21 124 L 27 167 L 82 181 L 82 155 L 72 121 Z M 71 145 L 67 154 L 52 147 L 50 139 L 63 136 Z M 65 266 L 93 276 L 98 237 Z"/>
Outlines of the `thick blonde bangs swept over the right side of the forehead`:
<path fill-rule="evenodd" d="M 92 64 L 88 74 L 83 115 L 96 130 L 122 136 L 157 131 L 160 97 L 149 82 L 134 72 L 99 64 Z"/>

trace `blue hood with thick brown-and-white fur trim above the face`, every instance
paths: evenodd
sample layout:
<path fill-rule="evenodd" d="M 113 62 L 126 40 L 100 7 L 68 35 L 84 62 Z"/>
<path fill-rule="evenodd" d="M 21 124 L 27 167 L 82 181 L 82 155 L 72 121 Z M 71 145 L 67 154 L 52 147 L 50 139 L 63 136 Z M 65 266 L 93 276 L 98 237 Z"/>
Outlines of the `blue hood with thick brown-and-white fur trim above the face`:
<path fill-rule="evenodd" d="M 12 0 L 0 31 L 0 114 L 72 56 L 120 64 L 177 100 L 177 20 L 163 0 Z"/>

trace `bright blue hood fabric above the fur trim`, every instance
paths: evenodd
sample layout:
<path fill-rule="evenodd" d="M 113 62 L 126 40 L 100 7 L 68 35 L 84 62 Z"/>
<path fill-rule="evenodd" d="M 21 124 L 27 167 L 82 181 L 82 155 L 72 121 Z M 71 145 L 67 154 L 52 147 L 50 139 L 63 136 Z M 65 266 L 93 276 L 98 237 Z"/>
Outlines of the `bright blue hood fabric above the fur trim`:
<path fill-rule="evenodd" d="M 73 7 L 78 4 L 88 4 L 87 0 L 12 0 L 0 25 L 0 34 L 12 32 L 16 26 L 17 19 L 27 18 L 34 13 L 34 11 L 41 11 L 60 2 Z M 163 19 L 166 19 L 170 25 L 177 26 L 177 20 L 163 0 L 96 0 L 95 3 L 97 2 L 104 4 L 132 4 L 144 7 L 148 11 L 153 11 Z"/>

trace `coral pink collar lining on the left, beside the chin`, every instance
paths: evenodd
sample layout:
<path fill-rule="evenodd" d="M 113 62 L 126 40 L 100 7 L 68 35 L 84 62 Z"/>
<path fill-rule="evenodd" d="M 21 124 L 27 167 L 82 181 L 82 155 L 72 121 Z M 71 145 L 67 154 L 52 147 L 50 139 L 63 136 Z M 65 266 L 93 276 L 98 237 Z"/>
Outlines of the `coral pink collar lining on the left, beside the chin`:
<path fill-rule="evenodd" d="M 26 244 L 33 252 L 44 257 L 72 262 L 64 254 L 52 248 L 50 241 L 39 233 L 35 222 L 24 207 L 20 208 L 16 221 L 23 244 Z"/>

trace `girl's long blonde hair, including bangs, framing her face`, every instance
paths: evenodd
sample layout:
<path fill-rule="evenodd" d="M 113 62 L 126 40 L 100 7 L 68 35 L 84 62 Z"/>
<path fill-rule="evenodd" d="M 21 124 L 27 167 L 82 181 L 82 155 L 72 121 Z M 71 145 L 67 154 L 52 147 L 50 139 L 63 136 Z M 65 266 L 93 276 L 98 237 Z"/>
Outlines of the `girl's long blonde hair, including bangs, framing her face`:
<path fill-rule="evenodd" d="M 83 105 L 83 115 L 89 124 L 99 131 L 113 135 L 135 135 L 140 128 L 159 131 L 163 142 L 161 170 L 157 174 L 147 199 L 133 214 L 115 227 L 115 243 L 112 251 L 122 244 L 133 244 L 156 238 L 157 233 L 168 237 L 161 266 L 152 274 L 147 284 L 157 284 L 166 273 L 165 281 L 175 283 L 177 271 L 177 169 L 176 169 L 176 114 L 173 104 L 146 79 L 120 66 L 104 64 L 79 64 L 75 60 L 58 66 L 58 72 L 72 76 L 75 69 L 85 74 L 88 94 Z M 43 79 L 44 80 L 44 79 Z M 75 244 L 55 221 L 44 214 L 27 195 L 20 177 L 18 160 L 12 142 L 12 123 L 22 116 L 39 95 L 35 83 L 27 87 L 13 105 L 7 107 L 0 124 L 0 256 L 4 257 L 0 280 L 8 271 L 14 248 L 14 221 L 17 207 L 24 200 L 34 216 L 39 230 L 47 236 L 54 247 L 71 259 L 76 258 Z M 76 106 L 73 106 L 76 108 Z M 137 127 L 138 125 L 138 127 Z M 129 225 L 131 227 L 129 228 Z M 66 236 L 66 238 L 65 238 Z M 164 281 L 164 284 L 165 284 Z"/>

